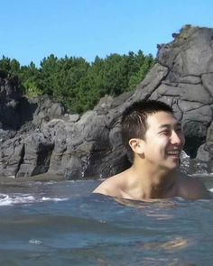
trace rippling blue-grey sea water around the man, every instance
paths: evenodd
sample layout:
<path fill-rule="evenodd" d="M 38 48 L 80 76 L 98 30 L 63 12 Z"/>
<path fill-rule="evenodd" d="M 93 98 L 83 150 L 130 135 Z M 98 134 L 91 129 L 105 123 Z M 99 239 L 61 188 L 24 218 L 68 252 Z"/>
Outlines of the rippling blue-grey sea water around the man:
<path fill-rule="evenodd" d="M 211 199 L 117 202 L 97 184 L 0 185 L 0 265 L 213 265 Z"/>

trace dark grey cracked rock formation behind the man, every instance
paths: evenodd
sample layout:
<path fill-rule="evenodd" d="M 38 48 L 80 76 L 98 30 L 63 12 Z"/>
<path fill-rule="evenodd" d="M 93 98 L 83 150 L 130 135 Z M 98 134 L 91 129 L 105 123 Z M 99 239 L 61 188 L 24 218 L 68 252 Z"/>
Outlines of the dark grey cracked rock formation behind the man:
<path fill-rule="evenodd" d="M 130 166 L 119 119 L 151 98 L 172 105 L 183 124 L 190 170 L 213 170 L 213 29 L 186 26 L 159 45 L 157 62 L 134 94 L 106 96 L 93 111 L 68 115 L 48 97 L 27 100 L 0 78 L 0 176 L 44 172 L 106 178 Z"/>

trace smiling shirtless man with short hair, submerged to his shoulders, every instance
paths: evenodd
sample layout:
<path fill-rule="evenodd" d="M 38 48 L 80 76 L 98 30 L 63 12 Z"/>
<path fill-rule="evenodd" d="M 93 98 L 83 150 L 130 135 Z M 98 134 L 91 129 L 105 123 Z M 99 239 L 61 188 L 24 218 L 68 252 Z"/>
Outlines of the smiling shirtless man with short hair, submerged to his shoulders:
<path fill-rule="evenodd" d="M 135 102 L 125 110 L 121 124 L 124 142 L 134 153 L 133 165 L 106 179 L 94 193 L 133 200 L 209 198 L 198 179 L 178 170 L 185 139 L 169 105 Z"/>

